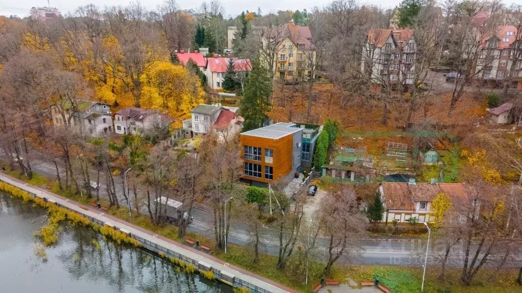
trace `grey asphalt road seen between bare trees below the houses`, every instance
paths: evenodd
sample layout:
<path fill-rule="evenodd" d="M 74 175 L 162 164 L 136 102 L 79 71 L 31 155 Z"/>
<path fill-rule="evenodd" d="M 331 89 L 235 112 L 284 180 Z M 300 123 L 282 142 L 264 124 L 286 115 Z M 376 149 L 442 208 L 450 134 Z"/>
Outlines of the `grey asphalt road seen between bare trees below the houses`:
<path fill-rule="evenodd" d="M 0 157 L 6 160 L 5 154 L 0 150 Z M 54 163 L 46 160 L 35 160 L 31 162 L 33 171 L 44 176 L 55 177 L 56 170 Z M 60 172 L 62 173 L 61 168 Z M 91 176 L 96 178 L 96 176 Z M 100 176 L 102 180 L 104 176 Z M 123 185 L 121 177 L 114 177 L 116 184 L 116 193 L 120 204 L 127 206 L 127 203 L 123 197 Z M 107 198 L 105 193 L 105 182 L 100 182 L 100 197 Z M 131 190 L 131 198 L 133 197 Z M 147 214 L 145 203 L 142 202 L 140 210 Z M 317 203 L 315 203 L 317 204 Z M 309 209 L 309 210 L 314 210 Z M 196 234 L 205 235 L 207 237 L 214 237 L 213 230 L 213 213 L 210 207 L 197 204 L 193 209 L 192 216 L 194 221 L 188 225 L 188 230 Z M 303 234 L 306 234 L 304 231 Z M 270 254 L 277 255 L 279 252 L 279 232 L 275 229 L 268 227 L 263 228 L 262 231 L 262 251 Z M 357 245 L 350 245 L 351 250 L 346 253 L 346 257 L 343 257 L 339 262 L 350 262 L 352 264 L 369 264 L 369 265 L 402 265 L 402 266 L 423 266 L 424 257 L 426 253 L 426 240 L 427 238 L 386 238 L 386 237 L 369 237 L 367 239 L 351 239 L 351 243 L 357 243 Z M 306 239 L 303 238 L 300 245 L 304 246 Z M 229 233 L 229 243 L 234 243 L 240 246 L 251 246 L 250 227 L 248 224 L 241 222 L 231 223 L 231 231 Z M 299 241 L 298 241 L 299 242 Z M 327 257 L 327 247 L 329 239 L 319 238 L 317 239 L 317 249 L 314 252 L 316 257 Z M 298 244 L 299 245 L 299 244 Z M 353 248 L 353 247 L 357 247 Z M 471 251 L 474 251 L 476 246 L 472 246 Z M 430 250 L 428 256 L 428 265 L 437 265 L 437 256 L 442 255 L 444 248 L 442 245 L 438 245 L 432 241 L 430 243 Z M 522 253 L 518 251 L 514 253 L 516 257 L 508 259 L 506 266 L 519 267 L 522 264 Z M 455 249 L 450 254 L 453 261 L 449 262 L 448 266 L 460 266 L 464 261 L 464 249 L 462 247 Z M 501 259 L 503 257 L 500 253 L 493 253 L 494 258 Z M 486 266 L 494 266 L 493 263 L 485 264 Z"/>

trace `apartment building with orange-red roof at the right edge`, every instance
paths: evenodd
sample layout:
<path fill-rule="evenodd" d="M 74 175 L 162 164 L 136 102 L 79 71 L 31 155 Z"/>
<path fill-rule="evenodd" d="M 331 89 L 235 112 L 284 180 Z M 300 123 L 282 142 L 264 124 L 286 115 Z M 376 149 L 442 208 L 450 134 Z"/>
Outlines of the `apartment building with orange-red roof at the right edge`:
<path fill-rule="evenodd" d="M 494 33 L 477 36 L 481 54 L 477 60 L 477 78 L 485 80 L 503 80 L 506 76 L 522 76 L 522 63 L 517 64 L 516 72 L 509 72 L 513 63 L 512 46 L 516 41 L 515 26 L 499 26 Z"/>

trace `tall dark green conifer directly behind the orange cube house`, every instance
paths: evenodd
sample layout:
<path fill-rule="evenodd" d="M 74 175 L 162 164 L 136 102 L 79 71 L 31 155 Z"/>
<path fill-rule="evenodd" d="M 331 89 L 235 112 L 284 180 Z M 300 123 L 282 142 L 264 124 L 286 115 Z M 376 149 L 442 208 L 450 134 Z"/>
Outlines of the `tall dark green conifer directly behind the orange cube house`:
<path fill-rule="evenodd" d="M 245 118 L 243 131 L 256 129 L 263 126 L 263 121 L 268 118 L 266 112 L 270 111 L 270 96 L 272 94 L 272 80 L 268 70 L 259 59 L 252 62 L 252 72 L 248 74 L 241 100 L 241 115 Z"/>

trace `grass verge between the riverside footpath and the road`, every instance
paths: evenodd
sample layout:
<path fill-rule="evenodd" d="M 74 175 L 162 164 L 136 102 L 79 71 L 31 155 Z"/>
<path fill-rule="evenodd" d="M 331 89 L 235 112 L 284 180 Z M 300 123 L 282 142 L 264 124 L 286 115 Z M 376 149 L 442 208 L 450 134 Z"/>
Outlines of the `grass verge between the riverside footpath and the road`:
<path fill-rule="evenodd" d="M 7 172 L 6 172 L 7 173 Z M 9 174 L 9 173 L 7 173 Z M 13 172 L 11 172 L 13 174 Z M 21 180 L 29 181 L 25 176 L 19 176 L 19 173 L 15 171 L 15 176 Z M 42 176 L 43 177 L 43 176 Z M 44 177 L 45 178 L 45 177 Z M 33 178 L 34 179 L 34 178 Z M 46 178 L 42 180 L 39 178 L 37 182 L 40 182 L 40 186 L 45 187 L 52 185 L 51 190 L 57 189 L 56 182 L 52 179 Z M 60 191 L 56 192 L 64 197 L 88 204 L 90 200 L 86 197 L 79 197 L 72 191 Z M 142 228 L 148 229 L 162 235 L 164 237 L 173 239 L 177 242 L 182 242 L 183 239 L 179 237 L 177 228 L 174 226 L 156 226 L 147 215 L 137 214 L 133 212 L 132 218 L 128 215 L 128 210 L 125 207 L 116 209 L 112 207 L 109 213 L 122 218 L 123 220 L 133 223 Z M 186 238 L 192 238 L 199 240 L 201 244 L 213 247 L 213 240 L 187 232 Z M 36 253 L 36 251 L 35 251 Z M 299 248 L 295 249 L 295 255 L 302 253 Z M 317 284 L 321 278 L 324 264 L 315 261 L 310 262 L 309 270 L 309 285 L 304 285 L 304 274 L 301 271 L 294 271 L 294 267 L 290 265 L 291 261 L 287 265 L 285 270 L 278 270 L 277 267 L 277 256 L 269 255 L 266 253 L 259 254 L 259 262 L 255 264 L 254 253 L 250 248 L 245 248 L 236 245 L 228 245 L 227 254 L 223 251 L 213 250 L 212 255 L 215 257 L 231 263 L 233 265 L 244 268 L 245 270 L 251 271 L 255 274 L 264 276 L 282 285 L 294 288 L 302 292 L 311 292 L 312 287 Z M 522 292 L 522 286 L 518 286 L 515 282 L 517 270 L 504 270 L 499 274 L 495 270 L 489 268 L 483 268 L 474 279 L 471 286 L 465 286 L 462 284 L 459 278 L 459 268 L 447 268 L 446 279 L 444 282 L 439 282 L 438 268 L 428 267 L 426 271 L 426 281 L 424 284 L 425 292 Z M 495 278 L 490 280 L 491 276 Z M 403 266 L 371 266 L 371 265 L 337 265 L 333 267 L 331 278 L 339 279 L 341 283 L 348 283 L 348 279 L 352 279 L 357 283 L 361 283 L 362 280 L 366 279 L 379 279 L 383 284 L 393 288 L 393 292 L 418 292 L 420 291 L 420 284 L 422 282 L 422 268 L 421 267 L 403 267 Z"/>

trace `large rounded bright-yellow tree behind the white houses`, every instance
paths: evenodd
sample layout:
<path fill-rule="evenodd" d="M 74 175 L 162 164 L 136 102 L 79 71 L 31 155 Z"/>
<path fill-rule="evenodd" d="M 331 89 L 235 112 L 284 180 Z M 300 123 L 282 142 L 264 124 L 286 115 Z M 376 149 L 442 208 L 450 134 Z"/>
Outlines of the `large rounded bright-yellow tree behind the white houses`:
<path fill-rule="evenodd" d="M 154 62 L 140 81 L 141 107 L 167 111 L 173 118 L 188 118 L 189 111 L 204 102 L 198 77 L 180 65 Z"/>

